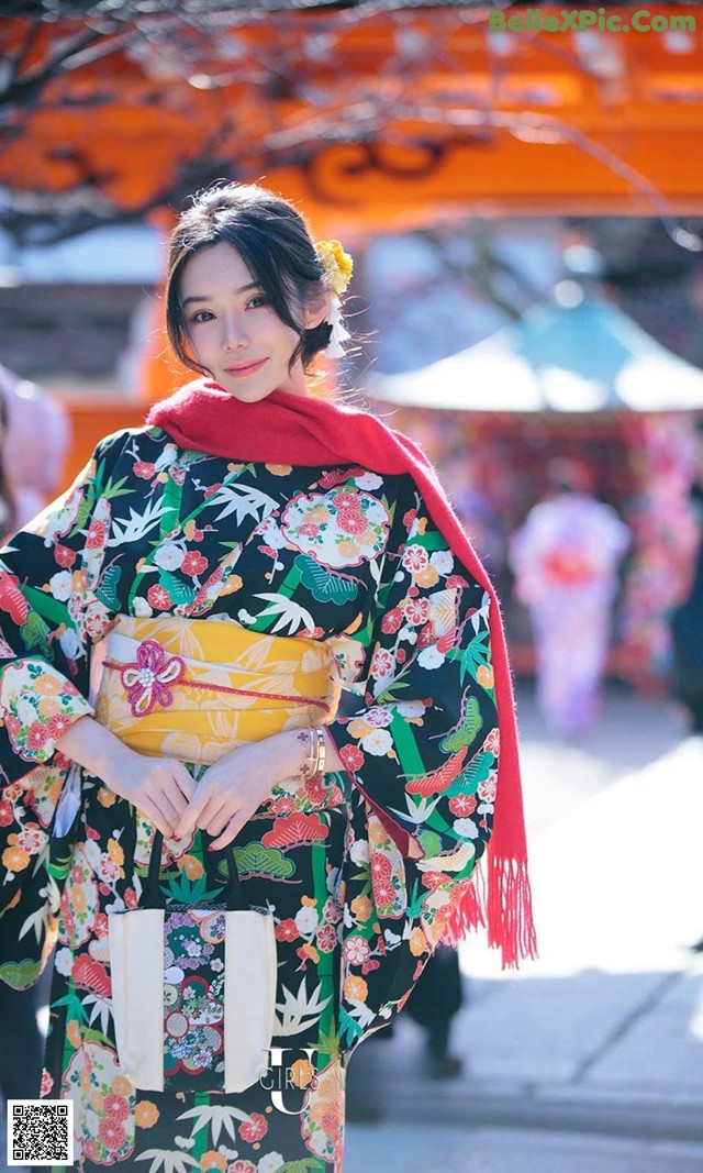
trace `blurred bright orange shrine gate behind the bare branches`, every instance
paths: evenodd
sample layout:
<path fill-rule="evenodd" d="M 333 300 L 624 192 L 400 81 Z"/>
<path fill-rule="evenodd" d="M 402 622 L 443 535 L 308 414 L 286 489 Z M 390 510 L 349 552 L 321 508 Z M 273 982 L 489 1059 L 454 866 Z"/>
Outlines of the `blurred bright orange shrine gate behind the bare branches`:
<path fill-rule="evenodd" d="M 393 0 L 202 0 L 187 15 L 124 0 L 116 15 L 87 2 L 79 18 L 6 19 L 0 187 L 20 224 L 48 210 L 54 235 L 165 228 L 169 208 L 221 176 L 265 182 L 346 242 L 472 212 L 699 213 L 696 7 L 653 5 L 633 28 L 632 8 L 608 6 L 619 32 L 586 16 L 546 32 L 560 9 L 501 7 L 503 29 L 471 5 Z M 161 351 L 145 399 L 177 381 Z M 95 405 L 74 420 L 74 467 L 124 422 Z"/>

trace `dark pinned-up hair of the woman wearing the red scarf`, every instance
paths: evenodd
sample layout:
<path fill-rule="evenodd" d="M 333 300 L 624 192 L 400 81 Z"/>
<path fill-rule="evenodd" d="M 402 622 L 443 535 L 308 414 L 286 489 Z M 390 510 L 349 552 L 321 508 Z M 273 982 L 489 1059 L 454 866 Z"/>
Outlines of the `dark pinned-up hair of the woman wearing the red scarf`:
<path fill-rule="evenodd" d="M 314 308 L 327 290 L 308 226 L 282 196 L 257 184 L 218 183 L 199 191 L 180 213 L 170 242 L 166 274 L 166 331 L 176 354 L 193 371 L 202 367 L 189 353 L 187 327 L 180 307 L 180 277 L 196 252 L 225 242 L 239 252 L 281 321 L 299 337 L 288 369 L 302 359 L 307 371 L 329 344 L 332 326 L 322 321 L 306 330 L 301 313 Z"/>

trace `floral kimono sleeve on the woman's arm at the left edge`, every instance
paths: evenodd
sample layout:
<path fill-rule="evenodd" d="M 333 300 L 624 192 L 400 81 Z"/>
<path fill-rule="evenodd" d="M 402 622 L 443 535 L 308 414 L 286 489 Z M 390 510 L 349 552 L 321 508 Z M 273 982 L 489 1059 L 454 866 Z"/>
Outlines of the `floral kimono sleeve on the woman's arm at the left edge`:
<path fill-rule="evenodd" d="M 90 647 L 116 606 L 103 577 L 116 439 L 102 441 L 67 493 L 0 550 L 4 785 L 49 762 L 64 730 L 93 713 Z"/>

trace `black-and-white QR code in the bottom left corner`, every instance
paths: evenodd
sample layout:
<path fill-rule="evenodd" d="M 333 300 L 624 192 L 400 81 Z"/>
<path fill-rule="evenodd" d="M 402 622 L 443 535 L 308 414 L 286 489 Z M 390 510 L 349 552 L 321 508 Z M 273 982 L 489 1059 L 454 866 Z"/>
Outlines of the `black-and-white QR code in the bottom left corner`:
<path fill-rule="evenodd" d="M 73 1100 L 8 1100 L 8 1165 L 73 1165 Z"/>

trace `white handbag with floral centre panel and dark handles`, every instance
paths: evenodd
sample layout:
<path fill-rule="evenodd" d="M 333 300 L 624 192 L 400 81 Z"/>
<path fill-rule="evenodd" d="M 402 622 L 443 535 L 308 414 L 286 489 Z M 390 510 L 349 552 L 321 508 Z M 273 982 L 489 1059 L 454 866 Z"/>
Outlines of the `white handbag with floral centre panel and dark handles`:
<path fill-rule="evenodd" d="M 246 903 L 232 849 L 226 907 L 165 907 L 161 850 L 157 832 L 141 907 L 108 915 L 121 1071 L 143 1091 L 243 1092 L 269 1065 L 273 917 Z"/>

